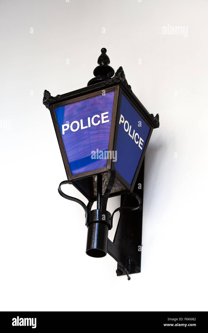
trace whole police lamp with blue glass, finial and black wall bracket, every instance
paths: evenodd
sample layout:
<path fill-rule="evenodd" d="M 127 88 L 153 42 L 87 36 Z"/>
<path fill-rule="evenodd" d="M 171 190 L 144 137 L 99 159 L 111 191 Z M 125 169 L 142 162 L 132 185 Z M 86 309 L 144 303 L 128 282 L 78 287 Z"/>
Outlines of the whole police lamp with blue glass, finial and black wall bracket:
<path fill-rule="evenodd" d="M 50 110 L 67 180 L 58 192 L 79 203 L 87 226 L 86 254 L 110 254 L 117 276 L 141 271 L 144 157 L 155 117 L 132 92 L 122 67 L 114 72 L 105 48 L 87 87 L 56 95 L 45 90 L 43 104 Z M 72 184 L 88 200 L 66 195 L 61 185 Z M 109 197 L 121 195 L 121 206 L 107 211 Z M 91 209 L 96 201 L 97 208 Z M 114 241 L 108 238 L 116 211 L 120 218 Z"/>

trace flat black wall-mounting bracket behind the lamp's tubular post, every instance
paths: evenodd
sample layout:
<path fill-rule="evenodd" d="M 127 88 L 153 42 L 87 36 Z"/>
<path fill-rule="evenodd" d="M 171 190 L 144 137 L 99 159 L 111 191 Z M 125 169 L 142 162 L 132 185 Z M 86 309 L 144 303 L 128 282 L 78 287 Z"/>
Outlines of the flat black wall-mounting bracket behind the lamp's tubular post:
<path fill-rule="evenodd" d="M 144 193 L 143 160 L 134 191 L 143 202 Z M 133 206 L 136 198 L 127 194 L 121 195 L 121 206 Z M 108 253 L 118 262 L 117 276 L 141 272 L 142 250 L 142 205 L 137 210 L 122 210 L 114 236 L 114 241 L 108 243 Z"/>

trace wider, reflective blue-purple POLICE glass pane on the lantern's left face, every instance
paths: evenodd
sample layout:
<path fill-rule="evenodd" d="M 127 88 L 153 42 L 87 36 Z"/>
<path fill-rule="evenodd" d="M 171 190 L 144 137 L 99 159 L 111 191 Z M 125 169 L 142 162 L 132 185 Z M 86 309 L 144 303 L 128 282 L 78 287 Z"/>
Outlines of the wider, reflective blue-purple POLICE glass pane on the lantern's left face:
<path fill-rule="evenodd" d="M 55 109 L 72 175 L 107 165 L 91 152 L 108 151 L 113 102 L 114 91 Z"/>

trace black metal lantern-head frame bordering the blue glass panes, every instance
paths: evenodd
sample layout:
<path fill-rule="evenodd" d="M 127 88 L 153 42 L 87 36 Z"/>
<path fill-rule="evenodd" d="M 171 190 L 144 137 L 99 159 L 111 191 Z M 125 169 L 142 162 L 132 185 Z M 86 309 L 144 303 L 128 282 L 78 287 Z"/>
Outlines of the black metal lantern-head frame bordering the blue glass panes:
<path fill-rule="evenodd" d="M 99 82 L 97 84 L 91 85 L 89 87 L 85 87 L 82 89 L 75 90 L 71 93 L 57 95 L 56 97 L 50 96 L 50 93 L 45 90 L 44 97 L 43 97 L 43 104 L 50 110 L 51 118 L 53 121 L 57 141 L 59 144 L 63 164 L 65 167 L 66 175 L 68 180 L 73 180 L 73 185 L 88 199 L 91 200 L 92 198 L 88 197 L 84 191 L 74 182 L 74 180 L 81 180 L 85 177 L 89 177 L 94 174 L 107 172 L 109 169 L 114 169 L 114 163 L 112 160 L 107 161 L 107 166 L 104 168 L 72 175 L 69 167 L 69 163 L 67 160 L 66 152 L 64 149 L 61 133 L 59 130 L 59 126 L 57 123 L 56 115 L 54 109 L 60 106 L 64 106 L 67 104 L 71 104 L 74 102 L 78 102 L 84 99 L 88 99 L 94 96 L 98 96 L 102 94 L 103 89 L 105 92 L 108 93 L 110 91 L 115 91 L 114 95 L 114 104 L 113 104 L 113 114 L 112 114 L 112 124 L 111 124 L 111 132 L 110 132 L 110 140 L 109 140 L 109 150 L 116 150 L 116 143 L 117 143 L 117 135 L 118 135 L 118 126 L 119 126 L 119 113 L 120 113 L 120 106 L 121 106 L 121 97 L 124 94 L 138 114 L 144 119 L 144 121 L 150 127 L 149 135 L 144 146 L 142 156 L 133 177 L 132 183 L 129 184 L 119 173 L 116 171 L 116 178 L 126 187 L 127 191 L 133 191 L 137 176 L 139 174 L 140 167 L 142 165 L 145 152 L 154 128 L 159 127 L 159 116 L 156 115 L 154 117 L 152 114 L 150 115 L 149 112 L 145 109 L 142 103 L 138 100 L 138 98 L 133 94 L 131 90 L 131 86 L 128 85 L 124 71 L 122 67 L 115 73 L 115 76 L 109 80 L 104 82 Z M 125 193 L 125 191 L 120 193 L 112 193 L 110 196 L 115 196 L 118 194 Z M 94 198 L 96 200 L 96 198 Z"/>

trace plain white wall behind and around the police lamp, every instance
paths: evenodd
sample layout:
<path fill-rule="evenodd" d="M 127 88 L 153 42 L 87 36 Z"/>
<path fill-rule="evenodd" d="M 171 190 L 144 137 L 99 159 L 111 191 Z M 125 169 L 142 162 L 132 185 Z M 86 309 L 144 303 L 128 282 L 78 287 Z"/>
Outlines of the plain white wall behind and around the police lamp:
<path fill-rule="evenodd" d="M 208 2 L 0 7 L 0 310 L 207 310 Z M 168 24 L 188 26 L 188 36 L 163 35 Z M 102 47 L 160 115 L 146 153 L 142 271 L 130 281 L 109 255 L 85 254 L 84 211 L 58 194 L 66 175 L 42 105 L 44 89 L 56 96 L 86 86 Z M 118 206 L 119 197 L 109 200 L 111 212 Z"/>

